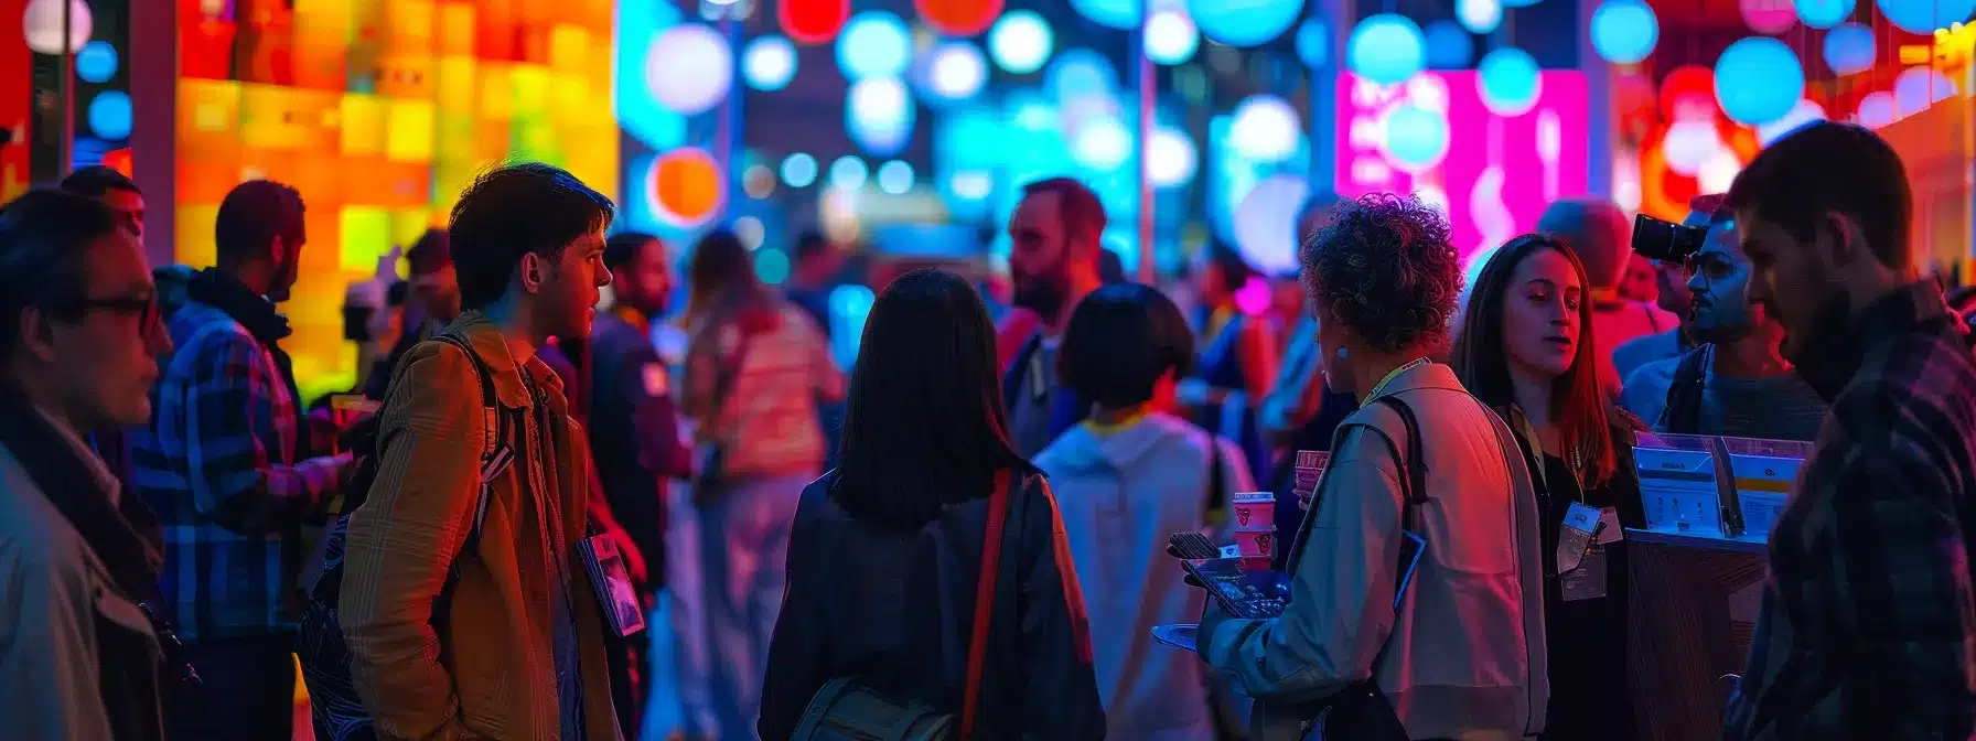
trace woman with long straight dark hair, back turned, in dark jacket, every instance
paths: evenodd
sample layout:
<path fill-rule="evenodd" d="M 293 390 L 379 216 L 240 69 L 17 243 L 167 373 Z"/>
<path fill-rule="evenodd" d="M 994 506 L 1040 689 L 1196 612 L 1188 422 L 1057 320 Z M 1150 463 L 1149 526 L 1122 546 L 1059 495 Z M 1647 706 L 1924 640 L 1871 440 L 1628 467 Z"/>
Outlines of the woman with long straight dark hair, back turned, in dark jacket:
<path fill-rule="evenodd" d="M 1057 504 L 1010 445 L 1002 409 L 994 326 L 974 287 L 939 269 L 885 287 L 852 371 L 842 462 L 802 492 L 796 512 L 763 680 L 763 739 L 788 739 L 836 678 L 962 709 L 988 502 L 1002 472 L 1018 486 L 1000 539 L 976 731 L 1105 735 Z"/>

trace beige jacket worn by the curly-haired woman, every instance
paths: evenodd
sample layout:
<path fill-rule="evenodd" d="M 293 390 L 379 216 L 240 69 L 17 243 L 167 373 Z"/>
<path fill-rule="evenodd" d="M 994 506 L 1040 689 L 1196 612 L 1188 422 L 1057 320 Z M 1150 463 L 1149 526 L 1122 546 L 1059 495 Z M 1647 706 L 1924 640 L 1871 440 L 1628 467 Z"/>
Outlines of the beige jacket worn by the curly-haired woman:
<path fill-rule="evenodd" d="M 1302 737 L 1304 719 L 1288 705 L 1369 676 L 1409 737 L 1533 735 L 1543 729 L 1549 686 L 1529 472 L 1504 447 L 1508 427 L 1448 366 L 1407 370 L 1383 395 L 1397 395 L 1419 419 L 1431 498 L 1417 524 L 1427 553 L 1399 611 L 1405 472 L 1379 435 L 1405 454 L 1407 433 L 1395 411 L 1367 399 L 1340 425 L 1316 512 L 1292 549 L 1288 613 L 1221 622 L 1207 658 L 1259 700 L 1257 739 Z"/>

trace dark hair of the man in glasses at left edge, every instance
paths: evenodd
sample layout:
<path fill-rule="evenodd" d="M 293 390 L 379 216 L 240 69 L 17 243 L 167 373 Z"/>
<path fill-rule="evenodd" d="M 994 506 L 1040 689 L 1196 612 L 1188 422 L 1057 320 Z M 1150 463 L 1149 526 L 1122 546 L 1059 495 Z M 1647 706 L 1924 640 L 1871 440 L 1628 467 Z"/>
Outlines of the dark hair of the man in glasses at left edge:
<path fill-rule="evenodd" d="M 30 306 L 79 316 L 87 247 L 119 229 L 103 202 L 63 190 L 30 190 L 0 207 L 0 360 L 20 344 Z"/>

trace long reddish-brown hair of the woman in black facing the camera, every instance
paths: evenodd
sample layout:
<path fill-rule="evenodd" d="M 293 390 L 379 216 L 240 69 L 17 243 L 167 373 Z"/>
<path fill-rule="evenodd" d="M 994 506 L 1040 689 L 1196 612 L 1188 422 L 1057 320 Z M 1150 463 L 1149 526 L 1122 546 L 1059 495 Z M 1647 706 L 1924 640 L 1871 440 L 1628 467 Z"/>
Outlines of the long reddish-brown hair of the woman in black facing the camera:
<path fill-rule="evenodd" d="M 1510 279 L 1525 259 L 1541 251 L 1565 255 L 1571 271 L 1579 275 L 1579 285 L 1591 290 L 1585 263 L 1557 239 L 1527 233 L 1496 249 L 1496 255 L 1482 267 L 1482 275 L 1476 277 L 1450 362 L 1468 393 L 1494 409 L 1510 409 L 1516 403 L 1516 387 L 1510 383 L 1510 352 L 1502 332 L 1504 302 L 1510 300 L 1512 288 Z M 1557 437 L 1567 449 L 1565 456 L 1581 472 L 1585 486 L 1605 484 L 1618 468 L 1595 354 L 1593 302 L 1581 300 L 1579 348 L 1571 356 L 1571 370 L 1551 381 L 1551 423 L 1557 425 Z"/>

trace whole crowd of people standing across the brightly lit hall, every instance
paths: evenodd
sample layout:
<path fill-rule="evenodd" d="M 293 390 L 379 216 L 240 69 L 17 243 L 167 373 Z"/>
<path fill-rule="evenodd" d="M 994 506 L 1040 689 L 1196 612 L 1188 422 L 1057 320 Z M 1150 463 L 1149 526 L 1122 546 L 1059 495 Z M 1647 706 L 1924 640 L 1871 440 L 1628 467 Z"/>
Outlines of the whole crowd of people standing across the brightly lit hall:
<path fill-rule="evenodd" d="M 1816 445 L 1725 735 L 1970 737 L 1976 364 L 1903 164 L 1820 123 L 1691 206 L 1691 257 L 1567 200 L 1464 267 L 1417 200 L 1318 198 L 1298 275 L 1213 243 L 1150 287 L 1049 178 L 1014 308 L 907 271 L 846 377 L 828 241 L 782 290 L 715 229 L 674 314 L 672 245 L 512 164 L 352 288 L 358 383 L 310 403 L 302 194 L 241 184 L 215 267 L 152 269 L 85 168 L 0 207 L 0 717 L 288 739 L 300 656 L 336 741 L 1624 739 L 1634 447 L 1682 433 Z M 1269 618 L 1168 553 L 1251 490 Z"/>

